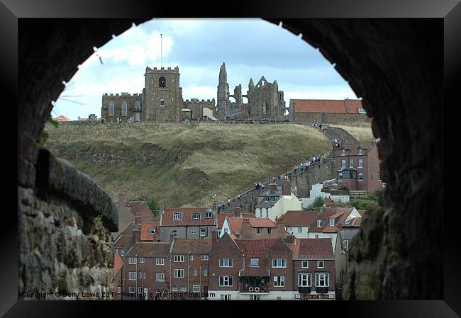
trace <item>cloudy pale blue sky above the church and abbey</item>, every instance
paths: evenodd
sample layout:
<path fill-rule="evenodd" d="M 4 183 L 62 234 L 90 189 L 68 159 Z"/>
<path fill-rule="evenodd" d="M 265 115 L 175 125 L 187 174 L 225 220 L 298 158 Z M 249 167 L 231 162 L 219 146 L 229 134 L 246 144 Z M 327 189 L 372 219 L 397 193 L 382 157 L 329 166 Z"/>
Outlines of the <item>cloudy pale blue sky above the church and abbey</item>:
<path fill-rule="evenodd" d="M 104 93 L 141 93 L 145 68 L 160 64 L 179 67 L 184 100 L 216 99 L 223 62 L 231 94 L 238 84 L 245 94 L 250 78 L 257 84 L 265 76 L 277 80 L 287 106 L 290 99 L 357 98 L 318 50 L 261 19 L 154 19 L 133 25 L 94 50 L 52 102 L 52 117 L 100 118 Z"/>

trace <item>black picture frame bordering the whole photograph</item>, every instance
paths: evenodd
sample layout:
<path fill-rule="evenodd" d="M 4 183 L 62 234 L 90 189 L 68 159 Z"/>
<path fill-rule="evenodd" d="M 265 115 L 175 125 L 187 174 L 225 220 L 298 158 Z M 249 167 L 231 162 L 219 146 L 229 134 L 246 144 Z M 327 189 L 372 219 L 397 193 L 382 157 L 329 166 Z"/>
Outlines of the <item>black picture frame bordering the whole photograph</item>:
<path fill-rule="evenodd" d="M 208 12 L 204 12 L 204 8 Z M 148 0 L 133 1 L 103 1 L 87 0 L 2 0 L 0 4 L 0 60 L 1 91 L 4 96 L 4 106 L 11 111 L 13 105 L 18 105 L 18 19 L 21 18 L 150 18 L 157 17 L 256 17 L 264 18 L 440 18 L 444 23 L 444 229 L 443 229 L 443 254 L 444 254 L 444 293 L 442 300 L 377 300 L 377 301 L 347 301 L 347 302 L 309 302 L 309 309 L 300 305 L 301 302 L 284 303 L 282 312 L 293 310 L 306 310 L 313 314 L 316 309 L 326 314 L 343 314 L 347 317 L 458 317 L 461 314 L 461 271 L 460 271 L 460 212 L 456 208 L 449 208 L 451 204 L 459 204 L 457 191 L 461 180 L 457 171 L 459 158 L 455 154 L 459 144 L 456 127 L 457 118 L 460 118 L 460 91 L 461 73 L 461 4 L 459 1 L 418 1 L 418 0 L 391 0 L 391 1 L 234 1 L 232 5 L 223 8 L 220 2 L 191 1 L 179 4 L 176 1 L 153 2 Z M 439 45 L 428 43 L 428 45 Z M 20 93 L 20 92 L 19 92 Z M 6 117 L 4 130 L 4 147 L 14 149 L 11 135 L 11 123 Z M 11 125 L 10 125 L 11 126 Z M 16 144 L 17 147 L 17 144 Z M 0 161 L 4 169 L 13 164 L 12 151 L 3 152 Z M 453 169 L 455 168 L 455 169 Z M 447 174 L 450 169 L 450 174 Z M 12 169 L 10 169 L 12 170 Z M 11 172 L 13 174 L 13 172 Z M 9 178 L 8 176 L 7 178 Z M 11 176 L 11 178 L 13 178 Z M 160 314 L 169 310 L 176 312 L 177 306 L 171 302 L 162 302 L 161 305 L 151 302 L 40 302 L 18 301 L 18 232 L 17 217 L 13 208 L 9 208 L 13 198 L 13 187 L 4 187 L 3 227 L 1 231 L 0 251 L 0 314 L 5 317 L 82 317 L 96 316 L 96 310 L 104 310 L 107 314 L 120 316 L 123 312 L 137 314 L 140 309 L 148 310 L 151 314 Z M 459 196 L 459 195 L 458 195 Z M 454 205 L 456 207 L 456 205 Z M 430 225 L 428 225 L 430 226 Z M 423 229 L 421 229 L 423 231 Z M 418 268 L 415 268 L 417 271 Z M 303 302 L 304 303 L 304 302 Z M 187 306 L 197 305 L 197 302 L 188 303 Z M 208 305 L 208 303 L 206 304 Z M 160 309 L 160 307 L 163 307 Z M 165 307 L 164 307 L 165 306 Z M 203 302 L 197 307 L 201 314 L 207 314 Z M 216 302 L 213 307 L 216 306 Z M 228 303 L 222 302 L 213 309 L 225 312 Z M 229 307 L 233 314 L 240 314 L 235 305 Z M 278 304 L 265 305 L 264 309 L 272 309 Z M 290 307 L 288 307 L 290 306 Z M 299 307 L 298 307 L 299 306 Z M 98 308 L 96 308 L 98 307 Z M 185 307 L 185 306 L 183 306 Z M 316 308 L 313 308 L 316 307 Z M 159 310 L 154 312 L 152 310 Z M 90 314 L 89 314 L 90 313 Z M 91 314 L 94 313 L 94 314 Z M 248 314 L 248 312 L 246 312 Z M 302 313 L 302 312 L 301 312 Z M 167 314 L 167 312 L 165 312 Z M 178 313 L 179 314 L 179 313 Z M 244 312 L 241 312 L 244 314 Z M 98 314 L 99 315 L 99 314 Z M 176 314 L 174 314 L 176 315 Z"/>

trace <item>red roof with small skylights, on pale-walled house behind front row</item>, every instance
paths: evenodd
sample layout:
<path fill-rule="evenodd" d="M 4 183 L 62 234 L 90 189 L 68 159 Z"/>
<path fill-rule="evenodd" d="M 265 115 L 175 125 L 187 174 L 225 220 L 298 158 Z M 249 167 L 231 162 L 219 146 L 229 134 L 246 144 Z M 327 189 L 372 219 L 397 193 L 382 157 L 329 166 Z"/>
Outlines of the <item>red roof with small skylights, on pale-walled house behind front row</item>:
<path fill-rule="evenodd" d="M 181 220 L 173 220 L 174 213 L 179 212 L 182 214 Z M 162 214 L 162 221 L 160 226 L 162 227 L 180 227 L 180 226 L 209 226 L 216 225 L 216 213 L 212 212 L 211 218 L 205 218 L 204 212 L 211 212 L 209 208 L 176 208 L 176 209 L 165 209 L 165 213 Z M 200 213 L 200 220 L 192 220 L 193 213 Z"/>

